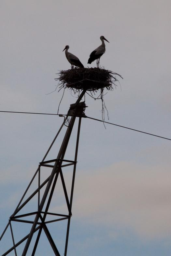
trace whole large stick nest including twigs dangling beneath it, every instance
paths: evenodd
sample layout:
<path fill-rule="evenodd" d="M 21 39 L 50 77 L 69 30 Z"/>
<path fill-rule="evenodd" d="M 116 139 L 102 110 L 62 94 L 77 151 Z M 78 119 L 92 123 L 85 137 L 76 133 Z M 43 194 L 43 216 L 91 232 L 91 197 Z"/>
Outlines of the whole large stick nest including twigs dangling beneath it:
<path fill-rule="evenodd" d="M 71 95 L 72 92 L 74 92 L 74 94 L 78 93 L 79 95 L 79 92 L 81 90 L 86 89 L 86 94 L 88 94 L 90 97 L 95 100 L 100 99 L 102 101 L 102 120 L 105 120 L 105 109 L 107 111 L 107 107 L 103 99 L 104 95 L 106 94 L 104 94 L 104 89 L 106 88 L 108 91 L 111 91 L 114 89 L 114 87 L 116 88 L 116 82 L 119 82 L 116 77 L 121 77 L 120 74 L 112 72 L 110 70 L 106 70 L 104 68 L 75 68 L 69 70 L 61 70 L 58 73 L 58 76 L 59 77 L 55 79 L 56 81 L 59 81 L 59 85 L 56 86 L 56 89 L 59 88 L 58 91 L 60 91 L 61 89 L 64 89 L 65 91 L 65 89 L 67 88 L 71 91 Z M 64 92 L 61 101 L 63 99 L 63 96 Z M 59 106 L 61 104 L 61 101 L 59 103 Z"/>

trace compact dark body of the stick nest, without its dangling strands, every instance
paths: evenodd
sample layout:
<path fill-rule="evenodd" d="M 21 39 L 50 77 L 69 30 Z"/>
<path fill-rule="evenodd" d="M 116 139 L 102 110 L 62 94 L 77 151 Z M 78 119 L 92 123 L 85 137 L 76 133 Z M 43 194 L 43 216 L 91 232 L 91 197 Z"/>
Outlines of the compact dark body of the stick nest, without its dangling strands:
<path fill-rule="evenodd" d="M 116 76 L 119 74 L 103 68 L 75 68 L 62 70 L 58 73 L 58 88 L 73 89 L 75 92 L 86 89 L 96 92 L 99 89 L 106 88 L 112 90 L 118 81 Z M 122 78 L 122 77 L 121 77 Z"/>

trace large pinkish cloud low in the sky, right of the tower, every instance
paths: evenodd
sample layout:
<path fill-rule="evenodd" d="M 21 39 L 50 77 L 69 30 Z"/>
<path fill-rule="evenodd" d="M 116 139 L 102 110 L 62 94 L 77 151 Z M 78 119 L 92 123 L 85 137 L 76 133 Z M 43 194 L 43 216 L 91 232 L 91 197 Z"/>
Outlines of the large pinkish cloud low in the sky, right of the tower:
<path fill-rule="evenodd" d="M 169 166 L 119 162 L 77 173 L 73 216 L 84 223 L 130 230 L 142 240 L 171 234 Z M 62 212 L 64 205 L 58 207 Z M 55 210 L 55 208 L 53 209 Z"/>

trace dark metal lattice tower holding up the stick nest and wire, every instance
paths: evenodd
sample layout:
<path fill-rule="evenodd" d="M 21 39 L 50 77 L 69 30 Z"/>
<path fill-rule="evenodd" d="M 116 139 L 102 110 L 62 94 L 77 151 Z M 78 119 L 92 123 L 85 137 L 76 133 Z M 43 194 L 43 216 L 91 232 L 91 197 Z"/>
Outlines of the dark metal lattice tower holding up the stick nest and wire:
<path fill-rule="evenodd" d="M 13 246 L 11 248 L 9 248 L 5 253 L 3 253 L 1 256 L 5 256 L 8 255 L 11 251 L 15 252 L 15 256 L 17 256 L 17 250 L 16 248 L 21 245 L 21 243 L 23 243 L 24 241 L 26 241 L 25 247 L 22 251 L 22 256 L 25 256 L 27 254 L 28 248 L 30 247 L 30 243 L 32 241 L 33 235 L 36 231 L 37 232 L 37 237 L 36 237 L 36 241 L 34 243 L 34 247 L 32 250 L 32 256 L 35 255 L 36 253 L 36 248 L 37 245 L 39 243 L 39 238 L 41 235 L 42 230 L 45 232 L 50 246 L 53 249 L 54 255 L 60 256 L 60 253 L 55 245 L 55 242 L 53 241 L 51 234 L 48 230 L 47 227 L 47 223 L 50 222 L 55 222 L 55 221 L 62 221 L 64 219 L 67 219 L 67 230 L 66 230 L 66 240 L 65 240 L 65 251 L 64 251 L 64 256 L 66 256 L 67 254 L 67 245 L 68 245 L 68 237 L 69 237 L 69 227 L 70 227 L 70 219 L 72 216 L 72 200 L 73 200 L 73 192 L 74 192 L 74 181 L 75 181 L 75 172 L 76 172 L 76 164 L 77 164 L 77 154 L 78 154 L 78 142 L 79 142 L 79 133 L 80 133 L 80 125 L 81 125 L 81 118 L 82 117 L 86 117 L 84 114 L 84 110 L 85 110 L 85 102 L 81 102 L 82 97 L 85 94 L 85 90 L 82 91 L 82 93 L 80 94 L 80 96 L 78 97 L 78 100 L 76 101 L 75 104 L 71 104 L 68 114 L 67 116 L 64 118 L 64 122 L 61 125 L 57 135 L 55 136 L 54 140 L 52 141 L 50 148 L 48 149 L 47 153 L 45 154 L 42 162 L 39 163 L 39 166 L 36 170 L 36 173 L 34 174 L 30 184 L 28 185 L 27 189 L 25 190 L 19 204 L 17 205 L 17 208 L 15 209 L 14 213 L 10 216 L 8 224 L 4 230 L 4 232 L 2 233 L 1 237 L 0 237 L 0 241 L 2 239 L 2 237 L 4 236 L 4 234 L 6 233 L 7 229 L 10 228 L 10 232 L 11 232 L 11 239 L 13 242 Z M 62 115 L 61 115 L 62 116 Z M 70 121 L 69 121 L 69 125 L 68 128 L 66 130 L 66 133 L 64 135 L 64 139 L 63 142 L 61 144 L 60 150 L 58 152 L 57 158 L 53 159 L 53 160 L 49 160 L 49 161 L 45 161 L 45 158 L 47 157 L 53 143 L 55 142 L 57 136 L 59 135 L 61 129 L 63 128 L 67 118 L 71 116 Z M 79 118 L 78 121 L 78 131 L 77 131 L 77 141 L 76 141 L 76 150 L 75 150 L 75 159 L 74 160 L 66 160 L 64 159 L 65 156 L 65 152 L 68 146 L 68 142 L 72 133 L 72 129 L 76 120 L 76 117 Z M 64 181 L 64 176 L 63 176 L 63 171 L 62 168 L 66 167 L 66 166 L 72 166 L 73 165 L 73 175 L 72 175 L 72 185 L 71 185 L 71 192 L 70 192 L 70 197 L 68 196 L 67 190 L 66 190 L 66 186 L 65 186 L 65 181 Z M 48 167 L 51 168 L 51 174 L 50 176 L 42 183 L 40 183 L 40 174 L 41 174 L 41 167 Z M 23 201 L 29 187 L 31 186 L 32 182 L 34 181 L 36 175 L 38 175 L 38 186 L 37 189 L 26 199 Z M 61 182 L 62 182 L 62 186 L 64 189 L 64 195 L 65 195 L 65 200 L 66 200 L 66 205 L 67 205 L 67 209 L 68 209 L 68 215 L 64 215 L 64 214 L 56 214 L 56 213 L 50 213 L 49 212 L 49 207 L 50 207 L 50 202 L 54 193 L 54 189 L 56 186 L 56 182 L 58 177 L 61 177 Z M 40 191 L 41 189 L 46 185 L 46 189 L 43 193 L 42 198 L 40 197 Z M 31 212 L 31 213 L 27 213 L 27 214 L 20 214 L 21 209 L 35 196 L 38 195 L 38 207 L 37 207 L 37 211 L 36 212 Z M 43 211 L 43 207 L 45 208 L 45 211 Z M 57 219 L 51 220 L 51 221 L 46 221 L 46 217 L 47 216 L 54 216 Z M 21 218 L 23 217 L 27 217 L 27 216 L 35 216 L 34 221 L 29 221 L 29 220 L 23 220 Z M 26 236 L 24 236 L 19 242 L 15 243 L 15 236 L 13 234 L 13 230 L 12 230 L 12 225 L 11 222 L 13 221 L 18 221 L 18 222 L 23 222 L 23 223 L 30 223 L 32 224 L 32 228 L 30 230 L 30 233 L 28 233 Z"/>

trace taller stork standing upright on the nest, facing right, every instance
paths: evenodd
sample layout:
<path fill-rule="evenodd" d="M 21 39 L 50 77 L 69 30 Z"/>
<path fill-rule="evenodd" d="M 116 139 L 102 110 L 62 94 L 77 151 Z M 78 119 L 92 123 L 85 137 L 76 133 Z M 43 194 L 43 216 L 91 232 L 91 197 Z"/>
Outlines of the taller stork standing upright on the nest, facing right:
<path fill-rule="evenodd" d="M 107 39 L 104 36 L 100 37 L 100 40 L 102 41 L 102 44 L 97 47 L 91 54 L 90 54 L 90 58 L 88 60 L 88 64 L 91 64 L 95 59 L 98 61 L 100 61 L 100 57 L 105 53 L 106 49 L 105 49 L 105 42 L 104 40 L 107 41 Z M 109 43 L 109 41 L 107 41 Z M 99 68 L 99 61 L 97 63 L 97 68 Z"/>

